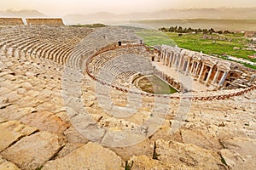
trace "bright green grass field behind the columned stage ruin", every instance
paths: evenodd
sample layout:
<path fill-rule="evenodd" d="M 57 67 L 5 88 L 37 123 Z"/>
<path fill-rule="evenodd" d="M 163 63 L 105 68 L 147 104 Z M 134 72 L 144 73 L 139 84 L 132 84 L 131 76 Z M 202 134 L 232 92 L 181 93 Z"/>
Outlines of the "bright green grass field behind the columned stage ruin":
<path fill-rule="evenodd" d="M 198 51 L 204 54 L 210 54 L 218 56 L 222 59 L 225 59 L 225 55 L 231 55 L 237 58 L 247 59 L 252 62 L 256 62 L 256 59 L 250 59 L 248 56 L 256 54 L 253 50 L 245 49 L 234 49 L 236 48 L 247 48 L 249 39 L 242 37 L 239 34 L 212 34 L 208 35 L 211 37 L 226 37 L 231 41 L 227 40 L 212 40 L 212 39 L 203 39 L 202 33 L 197 34 L 183 34 L 178 36 L 178 33 L 174 32 L 161 32 L 161 31 L 150 31 L 150 30 L 141 30 L 137 31 L 137 35 L 143 37 L 146 45 L 176 45 L 180 48 L 187 48 L 192 51 Z M 253 68 L 256 70 L 254 65 L 246 65 L 247 67 Z"/>

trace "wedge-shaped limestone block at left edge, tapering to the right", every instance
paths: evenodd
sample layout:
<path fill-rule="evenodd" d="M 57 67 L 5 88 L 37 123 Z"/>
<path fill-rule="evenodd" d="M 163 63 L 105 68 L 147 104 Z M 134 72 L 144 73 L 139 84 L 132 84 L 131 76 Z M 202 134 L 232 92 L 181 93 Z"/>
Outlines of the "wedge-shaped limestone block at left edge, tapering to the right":
<path fill-rule="evenodd" d="M 23 136 L 36 132 L 38 129 L 29 127 L 19 121 L 0 123 L 0 151 L 15 143 Z"/>

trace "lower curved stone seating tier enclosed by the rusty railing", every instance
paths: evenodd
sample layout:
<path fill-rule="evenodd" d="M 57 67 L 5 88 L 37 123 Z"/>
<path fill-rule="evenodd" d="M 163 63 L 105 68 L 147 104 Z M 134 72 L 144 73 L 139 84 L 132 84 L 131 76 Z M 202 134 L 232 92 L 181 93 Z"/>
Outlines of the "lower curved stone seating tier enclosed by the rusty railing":
<path fill-rule="evenodd" d="M 88 65 L 90 72 L 105 81 L 119 78 L 130 82 L 134 74 L 153 72 L 145 48 L 120 48 L 96 56 Z M 107 73 L 99 75 L 101 73 Z"/>

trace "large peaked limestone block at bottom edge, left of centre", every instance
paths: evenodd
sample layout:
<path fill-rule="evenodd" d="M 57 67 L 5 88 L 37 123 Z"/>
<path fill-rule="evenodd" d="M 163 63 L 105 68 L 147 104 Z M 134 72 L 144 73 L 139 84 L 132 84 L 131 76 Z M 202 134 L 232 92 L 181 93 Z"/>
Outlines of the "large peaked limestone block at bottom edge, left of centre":
<path fill-rule="evenodd" d="M 124 162 L 113 151 L 100 144 L 88 143 L 60 159 L 47 162 L 42 170 L 52 169 L 124 169 Z"/>

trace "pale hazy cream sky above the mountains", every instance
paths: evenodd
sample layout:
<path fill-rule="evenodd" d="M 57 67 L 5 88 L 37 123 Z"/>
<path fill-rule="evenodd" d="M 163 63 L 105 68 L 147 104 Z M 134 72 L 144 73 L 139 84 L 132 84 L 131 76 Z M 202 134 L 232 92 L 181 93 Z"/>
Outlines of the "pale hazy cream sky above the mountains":
<path fill-rule="evenodd" d="M 37 9 L 49 15 L 152 12 L 168 8 L 256 7 L 256 0 L 0 0 L 0 9 Z"/>

